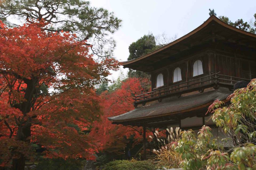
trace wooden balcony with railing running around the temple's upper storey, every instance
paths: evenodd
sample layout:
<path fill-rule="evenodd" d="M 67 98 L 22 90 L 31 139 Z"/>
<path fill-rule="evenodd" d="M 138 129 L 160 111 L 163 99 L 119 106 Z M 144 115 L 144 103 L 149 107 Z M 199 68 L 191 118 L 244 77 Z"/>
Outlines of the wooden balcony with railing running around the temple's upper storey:
<path fill-rule="evenodd" d="M 226 87 L 230 91 L 233 91 L 234 84 L 238 81 L 250 82 L 250 79 L 233 77 L 229 75 L 223 75 L 218 73 L 211 73 L 210 75 L 200 78 L 192 79 L 186 82 L 175 83 L 168 87 L 159 88 L 157 90 L 147 92 L 141 95 L 134 96 L 134 106 L 138 104 L 145 105 L 146 102 L 158 100 L 159 102 L 166 97 L 181 96 L 181 94 L 199 91 L 203 92 L 204 89 L 213 87 L 218 89 L 219 87 Z"/>

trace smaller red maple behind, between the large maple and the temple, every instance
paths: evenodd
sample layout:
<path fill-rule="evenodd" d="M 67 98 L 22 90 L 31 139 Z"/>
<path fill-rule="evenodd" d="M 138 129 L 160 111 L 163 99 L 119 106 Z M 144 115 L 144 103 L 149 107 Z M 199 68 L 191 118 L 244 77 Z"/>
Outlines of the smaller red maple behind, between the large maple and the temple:
<path fill-rule="evenodd" d="M 133 145 L 142 142 L 142 127 L 114 125 L 107 117 L 133 110 L 133 95 L 149 90 L 148 86 L 150 86 L 150 82 L 147 79 L 129 78 L 122 82 L 120 88 L 113 92 L 105 91 L 100 95 L 103 115 L 101 120 L 94 122 L 90 136 L 98 139 L 98 142 L 102 144 L 103 151 L 122 154 L 131 135 L 134 139 Z M 147 130 L 146 136 L 149 135 L 152 133 Z"/>

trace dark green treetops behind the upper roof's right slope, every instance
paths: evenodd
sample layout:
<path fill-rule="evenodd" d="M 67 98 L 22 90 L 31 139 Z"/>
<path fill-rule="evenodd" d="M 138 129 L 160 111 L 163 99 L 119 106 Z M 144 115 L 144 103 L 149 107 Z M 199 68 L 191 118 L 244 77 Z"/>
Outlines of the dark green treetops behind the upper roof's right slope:
<path fill-rule="evenodd" d="M 235 21 L 233 23 L 226 16 L 219 16 L 219 19 L 222 20 L 223 22 L 225 22 L 233 27 L 239 28 L 243 31 L 248 31 L 248 32 L 251 32 L 254 34 L 256 33 L 256 13 L 254 14 L 254 23 L 251 22 L 251 24 L 244 22 L 243 19 L 238 19 L 237 21 Z"/>

